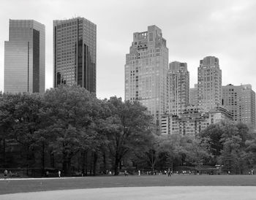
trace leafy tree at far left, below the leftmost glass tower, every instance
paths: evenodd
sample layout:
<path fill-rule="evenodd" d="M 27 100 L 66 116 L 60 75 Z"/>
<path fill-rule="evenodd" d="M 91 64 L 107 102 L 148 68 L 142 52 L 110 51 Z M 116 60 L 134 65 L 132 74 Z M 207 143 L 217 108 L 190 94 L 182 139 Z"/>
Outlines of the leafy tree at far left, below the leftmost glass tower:
<path fill-rule="evenodd" d="M 19 150 L 21 158 L 20 166 L 26 166 L 27 174 L 29 167 L 37 164 L 35 143 L 37 142 L 36 131 L 39 129 L 39 109 L 43 107 L 42 96 L 37 93 L 7 94 L 4 101 L 4 109 L 1 108 L 1 118 L 5 116 L 1 126 L 8 131 L 10 142 Z M 15 143 L 18 143 L 15 145 Z M 24 161 L 23 161 L 24 159 Z"/>

